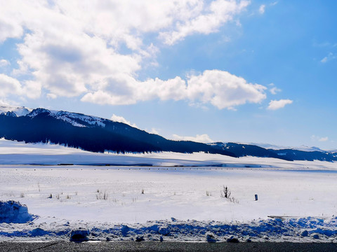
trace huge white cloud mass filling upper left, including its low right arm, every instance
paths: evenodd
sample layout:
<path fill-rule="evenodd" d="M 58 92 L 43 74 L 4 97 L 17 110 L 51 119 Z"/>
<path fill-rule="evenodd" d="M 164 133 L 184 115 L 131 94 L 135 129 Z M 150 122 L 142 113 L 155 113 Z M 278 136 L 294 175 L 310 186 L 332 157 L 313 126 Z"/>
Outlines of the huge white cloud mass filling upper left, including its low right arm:
<path fill-rule="evenodd" d="M 233 109 L 261 102 L 265 87 L 218 70 L 145 81 L 137 73 L 161 43 L 216 32 L 248 5 L 244 0 L 12 0 L 0 8 L 0 43 L 22 38 L 13 71 L 21 83 L 13 90 L 30 98 L 81 96 L 82 102 L 112 105 L 173 99 Z M 147 34 L 157 39 L 148 42 Z M 124 45 L 129 50 L 122 53 Z"/>

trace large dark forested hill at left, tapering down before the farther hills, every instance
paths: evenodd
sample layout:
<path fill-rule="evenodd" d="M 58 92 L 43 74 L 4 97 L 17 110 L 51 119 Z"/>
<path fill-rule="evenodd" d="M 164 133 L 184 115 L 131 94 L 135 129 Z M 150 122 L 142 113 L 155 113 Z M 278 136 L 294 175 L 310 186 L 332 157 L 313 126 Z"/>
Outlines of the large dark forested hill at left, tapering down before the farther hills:
<path fill-rule="evenodd" d="M 171 141 L 124 123 L 67 111 L 0 106 L 0 137 L 27 143 L 51 142 L 100 152 L 193 153 L 204 151 L 236 157 L 230 151 L 193 141 Z"/>

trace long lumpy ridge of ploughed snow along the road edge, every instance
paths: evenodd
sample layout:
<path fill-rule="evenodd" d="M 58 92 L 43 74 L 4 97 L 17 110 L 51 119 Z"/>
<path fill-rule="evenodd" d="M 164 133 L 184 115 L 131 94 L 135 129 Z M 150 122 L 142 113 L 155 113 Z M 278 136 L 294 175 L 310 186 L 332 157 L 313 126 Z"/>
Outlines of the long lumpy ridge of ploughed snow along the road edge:
<path fill-rule="evenodd" d="M 44 219 L 22 228 L 1 225 L 0 241 L 292 241 L 337 243 L 337 218 L 268 218 L 250 222 L 147 221 L 136 224 L 84 223 Z M 15 230 L 15 231 L 13 231 Z M 35 237 L 35 238 L 34 238 Z"/>

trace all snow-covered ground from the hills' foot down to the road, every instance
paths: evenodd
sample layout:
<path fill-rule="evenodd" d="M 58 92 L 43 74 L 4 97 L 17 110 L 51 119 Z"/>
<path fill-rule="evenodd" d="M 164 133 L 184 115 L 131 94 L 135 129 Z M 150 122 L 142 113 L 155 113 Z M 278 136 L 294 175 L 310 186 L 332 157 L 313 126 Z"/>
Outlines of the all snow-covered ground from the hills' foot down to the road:
<path fill-rule="evenodd" d="M 70 239 L 81 229 L 98 240 L 337 241 L 333 162 L 95 154 L 4 139 L 0 153 L 0 200 L 36 216 L 0 223 L 0 240 Z M 223 186 L 232 202 L 220 197 Z"/>

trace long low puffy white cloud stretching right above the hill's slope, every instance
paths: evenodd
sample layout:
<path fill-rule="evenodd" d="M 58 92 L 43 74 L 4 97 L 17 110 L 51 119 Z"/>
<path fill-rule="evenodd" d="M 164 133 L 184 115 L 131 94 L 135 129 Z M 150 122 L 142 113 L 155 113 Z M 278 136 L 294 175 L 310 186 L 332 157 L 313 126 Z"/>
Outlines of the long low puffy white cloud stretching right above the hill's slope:
<path fill-rule="evenodd" d="M 114 81 L 119 83 L 119 81 Z M 218 109 L 234 109 L 242 104 L 259 103 L 266 98 L 263 85 L 247 83 L 242 77 L 227 71 L 207 70 L 197 76 L 188 76 L 187 81 L 176 77 L 169 80 L 149 79 L 139 82 L 128 78 L 123 93 L 115 90 L 98 90 L 86 94 L 81 101 L 95 104 L 135 104 L 159 98 L 161 100 L 190 100 L 212 104 Z M 128 87 L 128 88 L 126 88 Z"/>

